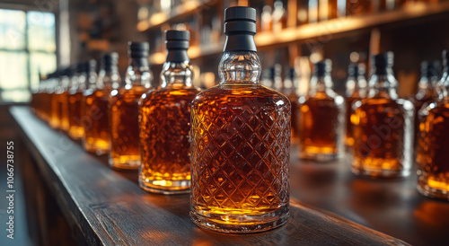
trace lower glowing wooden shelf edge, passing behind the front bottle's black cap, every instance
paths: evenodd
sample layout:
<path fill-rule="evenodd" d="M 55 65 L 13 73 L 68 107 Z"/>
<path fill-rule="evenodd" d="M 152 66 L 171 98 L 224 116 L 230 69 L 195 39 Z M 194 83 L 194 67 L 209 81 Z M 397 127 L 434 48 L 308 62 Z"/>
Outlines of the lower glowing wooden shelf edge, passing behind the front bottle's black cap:
<path fill-rule="evenodd" d="M 353 31 L 369 29 L 387 23 L 405 22 L 447 12 L 449 12 L 449 3 L 408 4 L 401 9 L 391 12 L 348 16 L 330 21 L 304 24 L 298 27 L 286 28 L 277 33 L 271 31 L 260 32 L 256 34 L 254 39 L 257 47 L 261 49 L 317 38 L 331 40 L 333 35 L 349 35 Z M 224 42 L 212 44 L 207 47 L 191 46 L 189 48 L 189 57 L 190 59 L 195 59 L 220 54 L 223 52 L 223 47 Z M 160 65 L 165 61 L 164 58 L 165 54 L 163 52 L 156 52 L 150 56 L 150 62 L 153 65 Z"/>

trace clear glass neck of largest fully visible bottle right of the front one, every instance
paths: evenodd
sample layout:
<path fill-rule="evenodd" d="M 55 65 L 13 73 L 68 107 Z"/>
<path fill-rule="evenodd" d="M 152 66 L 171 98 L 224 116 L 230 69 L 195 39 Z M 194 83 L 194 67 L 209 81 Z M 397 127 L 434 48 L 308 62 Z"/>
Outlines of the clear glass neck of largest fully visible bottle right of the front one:
<path fill-rule="evenodd" d="M 396 88 L 398 82 L 392 74 L 392 67 L 383 67 L 374 69 L 373 75 L 369 80 L 369 97 L 387 97 L 396 99 L 398 94 Z"/>

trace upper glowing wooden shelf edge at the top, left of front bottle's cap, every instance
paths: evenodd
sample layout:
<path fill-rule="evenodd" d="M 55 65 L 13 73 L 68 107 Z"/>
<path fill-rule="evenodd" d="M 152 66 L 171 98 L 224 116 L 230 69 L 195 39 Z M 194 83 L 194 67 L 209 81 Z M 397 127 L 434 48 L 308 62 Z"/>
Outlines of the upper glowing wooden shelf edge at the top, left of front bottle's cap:
<path fill-rule="evenodd" d="M 186 1 L 172 9 L 171 13 L 154 13 L 148 20 L 137 23 L 137 31 L 150 31 L 160 27 L 164 23 L 172 22 L 181 17 L 195 13 L 199 9 L 211 3 L 211 0 Z"/>

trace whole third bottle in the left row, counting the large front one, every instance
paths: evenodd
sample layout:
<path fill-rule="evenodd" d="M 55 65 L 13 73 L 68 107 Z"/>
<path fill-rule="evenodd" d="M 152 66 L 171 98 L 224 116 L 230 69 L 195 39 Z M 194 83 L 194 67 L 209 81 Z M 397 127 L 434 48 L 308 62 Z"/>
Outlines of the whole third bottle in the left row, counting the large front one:
<path fill-rule="evenodd" d="M 110 92 L 110 166 L 137 170 L 140 165 L 138 101 L 151 88 L 147 42 L 128 43 L 129 66 L 126 85 Z"/>

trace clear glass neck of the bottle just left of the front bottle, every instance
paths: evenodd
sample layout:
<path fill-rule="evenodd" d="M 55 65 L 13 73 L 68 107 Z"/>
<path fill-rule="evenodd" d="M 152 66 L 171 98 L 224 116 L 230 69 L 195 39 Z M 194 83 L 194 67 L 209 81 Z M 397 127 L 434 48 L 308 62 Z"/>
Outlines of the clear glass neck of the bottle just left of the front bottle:
<path fill-rule="evenodd" d="M 161 72 L 161 87 L 184 88 L 191 87 L 193 79 L 193 68 L 189 59 L 183 62 L 167 61 L 163 64 Z"/>

